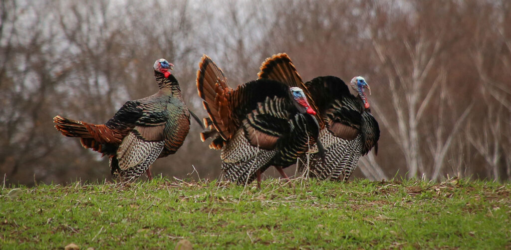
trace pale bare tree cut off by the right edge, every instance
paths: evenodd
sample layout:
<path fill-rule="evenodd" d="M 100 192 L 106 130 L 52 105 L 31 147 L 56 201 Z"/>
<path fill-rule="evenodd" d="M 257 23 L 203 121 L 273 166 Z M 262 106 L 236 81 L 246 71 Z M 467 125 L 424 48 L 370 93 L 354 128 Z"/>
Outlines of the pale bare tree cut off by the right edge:
<path fill-rule="evenodd" d="M 484 159 L 487 176 L 494 180 L 511 179 L 511 4 L 496 2 L 478 16 L 472 58 L 480 79 L 480 100 L 486 114 L 467 128 L 470 144 Z M 476 122 L 477 121 L 477 122 Z"/>

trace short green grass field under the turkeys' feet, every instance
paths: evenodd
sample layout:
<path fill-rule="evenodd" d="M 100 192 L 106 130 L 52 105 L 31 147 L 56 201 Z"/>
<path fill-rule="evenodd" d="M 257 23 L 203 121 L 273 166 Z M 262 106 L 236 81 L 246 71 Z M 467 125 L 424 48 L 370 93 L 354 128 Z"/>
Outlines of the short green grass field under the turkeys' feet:
<path fill-rule="evenodd" d="M 2 249 L 511 248 L 511 185 L 450 179 L 275 179 L 18 187 L 0 193 Z"/>

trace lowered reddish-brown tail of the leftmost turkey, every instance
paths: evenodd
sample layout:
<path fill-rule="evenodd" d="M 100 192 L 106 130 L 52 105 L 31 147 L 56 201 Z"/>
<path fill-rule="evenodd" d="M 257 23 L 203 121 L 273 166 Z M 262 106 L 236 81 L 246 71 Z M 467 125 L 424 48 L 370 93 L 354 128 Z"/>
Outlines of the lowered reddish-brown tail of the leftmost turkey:
<path fill-rule="evenodd" d="M 96 125 L 56 116 L 55 128 L 66 137 L 78 137 L 83 147 L 103 152 L 102 144 L 120 144 L 123 135 L 104 124 Z"/>

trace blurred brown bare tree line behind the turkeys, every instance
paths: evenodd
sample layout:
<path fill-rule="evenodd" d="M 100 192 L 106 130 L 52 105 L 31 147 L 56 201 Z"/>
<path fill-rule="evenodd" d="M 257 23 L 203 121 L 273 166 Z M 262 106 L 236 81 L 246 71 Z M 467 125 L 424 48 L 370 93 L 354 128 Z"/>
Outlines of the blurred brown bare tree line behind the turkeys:
<path fill-rule="evenodd" d="M 355 175 L 509 180 L 508 24 L 505 0 L 3 0 L 0 173 L 28 185 L 109 178 L 107 159 L 62 137 L 55 115 L 106 122 L 125 101 L 156 91 L 152 63 L 164 57 L 185 102 L 204 117 L 195 86 L 202 54 L 235 85 L 286 52 L 306 81 L 361 75 L 371 86 L 381 139 Z M 217 178 L 219 152 L 200 130 L 192 123 L 154 173 Z"/>

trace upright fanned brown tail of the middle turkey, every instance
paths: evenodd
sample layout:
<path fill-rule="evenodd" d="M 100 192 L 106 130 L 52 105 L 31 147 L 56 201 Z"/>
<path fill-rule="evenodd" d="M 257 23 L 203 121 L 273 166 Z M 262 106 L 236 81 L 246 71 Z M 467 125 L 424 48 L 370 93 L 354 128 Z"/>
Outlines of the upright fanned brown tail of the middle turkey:
<path fill-rule="evenodd" d="M 203 106 L 210 119 L 205 125 L 213 125 L 224 140 L 229 140 L 235 129 L 229 120 L 231 110 L 227 95 L 231 91 L 222 70 L 210 57 L 203 55 L 197 71 L 197 93 L 204 100 Z"/>

